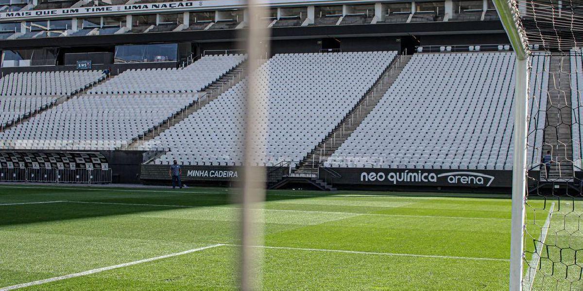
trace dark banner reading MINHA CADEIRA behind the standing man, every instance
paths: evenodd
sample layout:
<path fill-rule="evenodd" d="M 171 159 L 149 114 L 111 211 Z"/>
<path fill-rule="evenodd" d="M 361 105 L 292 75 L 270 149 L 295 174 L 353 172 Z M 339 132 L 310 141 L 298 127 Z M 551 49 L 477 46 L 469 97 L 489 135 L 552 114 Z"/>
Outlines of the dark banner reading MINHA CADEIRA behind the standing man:
<path fill-rule="evenodd" d="M 241 177 L 239 166 L 195 166 L 180 165 L 183 182 L 188 181 L 233 181 Z M 171 180 L 170 165 L 142 165 L 142 180 Z"/>

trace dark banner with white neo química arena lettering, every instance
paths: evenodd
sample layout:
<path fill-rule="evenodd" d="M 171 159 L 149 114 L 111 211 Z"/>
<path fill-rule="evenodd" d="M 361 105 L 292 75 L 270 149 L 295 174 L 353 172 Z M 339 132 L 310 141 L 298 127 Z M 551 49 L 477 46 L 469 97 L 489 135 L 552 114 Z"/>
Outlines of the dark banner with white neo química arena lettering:
<path fill-rule="evenodd" d="M 512 171 L 465 169 L 330 168 L 342 177 L 336 184 L 387 186 L 511 187 Z M 319 169 L 320 175 L 325 175 Z"/>

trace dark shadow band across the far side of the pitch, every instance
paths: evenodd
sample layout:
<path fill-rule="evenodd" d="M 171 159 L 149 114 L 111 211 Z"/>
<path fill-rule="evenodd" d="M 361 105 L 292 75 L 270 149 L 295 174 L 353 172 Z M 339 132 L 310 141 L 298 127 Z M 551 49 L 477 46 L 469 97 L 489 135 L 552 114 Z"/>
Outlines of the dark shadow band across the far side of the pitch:
<path fill-rule="evenodd" d="M 45 203 L 0 205 L 0 225 L 63 221 L 139 212 L 172 210 L 184 207 L 216 207 L 237 204 L 238 189 L 189 188 L 181 190 L 115 187 L 0 185 L 0 204 L 38 201 L 86 201 L 83 203 Z M 315 197 L 451 197 L 509 199 L 506 194 L 381 191 L 305 191 L 269 190 L 266 201 Z M 100 204 L 104 203 L 104 204 Z M 116 205 L 115 203 L 120 203 Z M 142 204 L 142 205 L 131 205 Z M 152 205 L 143 205 L 152 204 Z"/>

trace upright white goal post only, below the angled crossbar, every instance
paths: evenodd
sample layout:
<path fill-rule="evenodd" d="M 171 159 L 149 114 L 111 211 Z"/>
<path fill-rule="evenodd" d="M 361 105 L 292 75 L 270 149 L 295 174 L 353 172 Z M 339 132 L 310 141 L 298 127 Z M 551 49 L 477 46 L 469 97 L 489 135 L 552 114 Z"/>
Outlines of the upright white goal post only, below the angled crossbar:
<path fill-rule="evenodd" d="M 512 221 L 510 236 L 510 290 L 522 290 L 524 214 L 526 194 L 526 139 L 528 130 L 528 58 L 516 61 L 514 90 L 514 168 L 512 169 Z"/>

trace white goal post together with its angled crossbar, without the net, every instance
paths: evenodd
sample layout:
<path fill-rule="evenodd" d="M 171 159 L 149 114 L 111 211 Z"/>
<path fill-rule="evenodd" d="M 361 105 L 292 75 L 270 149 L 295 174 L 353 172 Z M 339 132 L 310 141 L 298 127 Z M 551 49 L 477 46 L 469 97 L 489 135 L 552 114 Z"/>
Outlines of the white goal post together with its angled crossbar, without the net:
<path fill-rule="evenodd" d="M 526 199 L 526 154 L 528 139 L 529 50 L 518 25 L 516 6 L 508 0 L 493 0 L 504 30 L 516 54 L 514 91 L 514 163 L 512 168 L 512 220 L 510 237 L 510 290 L 522 290 L 522 258 Z"/>

